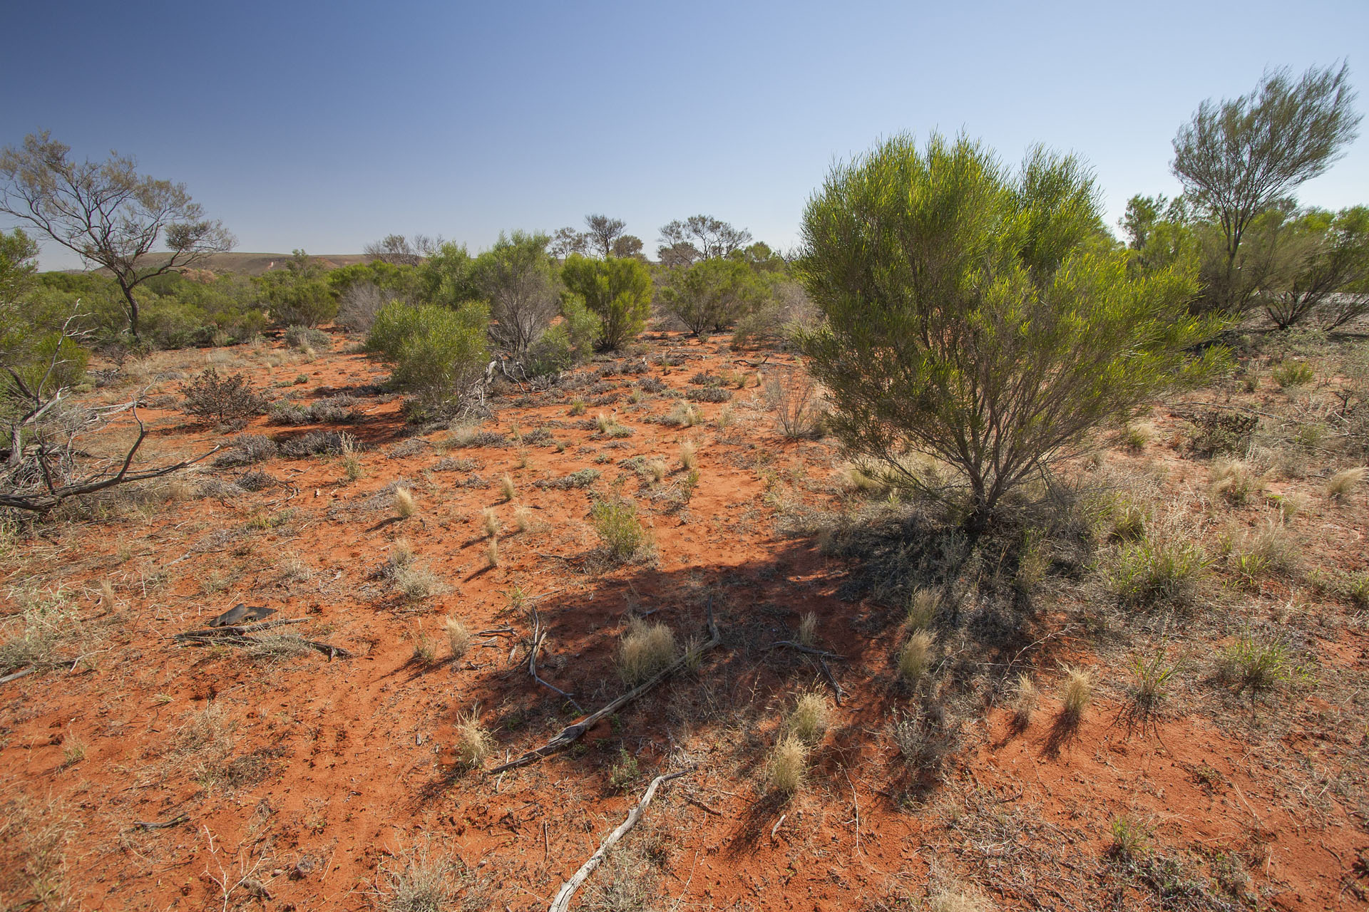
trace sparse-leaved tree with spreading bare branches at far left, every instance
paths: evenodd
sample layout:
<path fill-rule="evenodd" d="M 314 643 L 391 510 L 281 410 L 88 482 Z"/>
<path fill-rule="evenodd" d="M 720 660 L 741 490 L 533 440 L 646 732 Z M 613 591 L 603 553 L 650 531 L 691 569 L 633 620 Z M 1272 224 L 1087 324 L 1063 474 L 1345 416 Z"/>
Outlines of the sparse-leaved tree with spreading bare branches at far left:
<path fill-rule="evenodd" d="M 137 163 L 75 163 L 71 146 L 48 131 L 29 134 L 19 148 L 0 152 L 0 212 L 31 224 L 42 235 L 104 267 L 123 293 L 129 331 L 138 338 L 134 289 L 152 276 L 183 269 L 211 253 L 231 250 L 234 237 L 204 217 L 183 183 L 138 175 Z M 168 254 L 149 258 L 159 241 Z"/>

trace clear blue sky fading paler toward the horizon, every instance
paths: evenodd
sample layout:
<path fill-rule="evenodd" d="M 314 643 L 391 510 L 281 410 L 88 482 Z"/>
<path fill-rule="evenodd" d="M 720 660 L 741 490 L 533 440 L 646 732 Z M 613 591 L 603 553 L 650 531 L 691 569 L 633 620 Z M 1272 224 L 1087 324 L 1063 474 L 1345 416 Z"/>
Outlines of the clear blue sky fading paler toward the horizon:
<path fill-rule="evenodd" d="M 835 161 L 964 130 L 1083 156 L 1116 224 L 1170 139 L 1266 67 L 1348 60 L 1369 3 L 11 3 L 0 144 L 38 129 L 183 182 L 238 250 L 474 249 L 708 213 L 787 249 Z M 1369 127 L 1364 130 L 1369 134 Z M 1369 135 L 1299 191 L 1369 202 Z M 75 265 L 47 245 L 44 268 Z"/>

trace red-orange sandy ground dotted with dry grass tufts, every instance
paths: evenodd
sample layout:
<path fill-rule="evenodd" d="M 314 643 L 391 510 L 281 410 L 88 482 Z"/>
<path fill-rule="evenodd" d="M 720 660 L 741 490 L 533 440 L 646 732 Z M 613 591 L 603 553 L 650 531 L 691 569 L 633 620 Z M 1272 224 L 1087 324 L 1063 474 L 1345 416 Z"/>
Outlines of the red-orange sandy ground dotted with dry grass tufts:
<path fill-rule="evenodd" d="M 720 336 L 456 427 L 338 330 L 94 364 L 144 458 L 234 455 L 4 529 L 0 894 L 546 908 L 690 770 L 572 908 L 1355 908 L 1361 332 L 1251 325 L 975 540 L 849 465 L 793 354 Z M 188 416 L 207 366 L 290 420 Z M 301 623 L 172 639 L 237 603 Z"/>

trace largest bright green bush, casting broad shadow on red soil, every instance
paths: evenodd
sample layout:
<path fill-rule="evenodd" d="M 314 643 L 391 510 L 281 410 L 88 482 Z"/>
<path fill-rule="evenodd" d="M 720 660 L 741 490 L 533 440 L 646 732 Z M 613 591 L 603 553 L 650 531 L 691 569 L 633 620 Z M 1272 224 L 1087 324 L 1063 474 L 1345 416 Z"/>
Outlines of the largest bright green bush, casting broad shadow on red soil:
<path fill-rule="evenodd" d="M 939 489 L 908 451 L 958 470 L 967 528 L 1094 428 L 1221 364 L 1186 349 L 1192 278 L 1132 278 L 1101 239 L 1072 157 L 1034 150 L 1010 174 L 979 144 L 908 137 L 838 167 L 804 216 L 799 275 L 826 324 L 798 335 L 850 451 Z"/>

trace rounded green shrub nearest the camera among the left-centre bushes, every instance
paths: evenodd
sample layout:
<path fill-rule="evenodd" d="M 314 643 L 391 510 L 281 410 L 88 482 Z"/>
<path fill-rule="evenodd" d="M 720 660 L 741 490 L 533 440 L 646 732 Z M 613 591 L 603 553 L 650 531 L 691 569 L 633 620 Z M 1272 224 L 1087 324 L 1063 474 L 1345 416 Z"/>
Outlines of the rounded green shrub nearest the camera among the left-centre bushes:
<path fill-rule="evenodd" d="M 375 317 L 367 347 L 394 364 L 394 384 L 423 406 L 467 405 L 489 362 L 485 328 L 489 308 L 394 301 Z"/>

